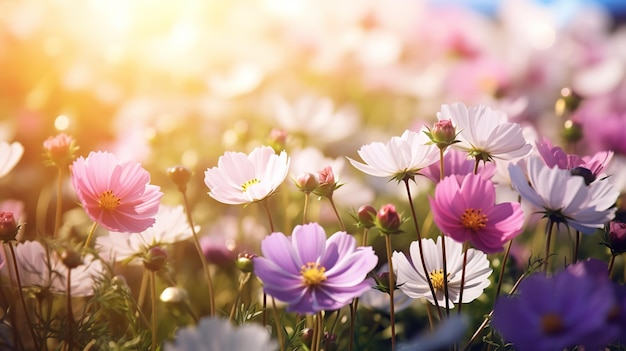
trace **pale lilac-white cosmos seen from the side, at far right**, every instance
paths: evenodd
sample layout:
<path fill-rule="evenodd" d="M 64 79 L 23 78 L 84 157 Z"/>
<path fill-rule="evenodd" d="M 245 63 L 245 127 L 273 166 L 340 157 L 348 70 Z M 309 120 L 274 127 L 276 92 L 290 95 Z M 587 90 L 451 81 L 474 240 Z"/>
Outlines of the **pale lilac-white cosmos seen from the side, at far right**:
<path fill-rule="evenodd" d="M 548 167 L 539 157 L 509 165 L 513 188 L 551 221 L 592 234 L 613 219 L 619 191 L 606 179 L 586 185 L 581 176 Z M 530 184 L 529 184 L 530 183 Z"/>

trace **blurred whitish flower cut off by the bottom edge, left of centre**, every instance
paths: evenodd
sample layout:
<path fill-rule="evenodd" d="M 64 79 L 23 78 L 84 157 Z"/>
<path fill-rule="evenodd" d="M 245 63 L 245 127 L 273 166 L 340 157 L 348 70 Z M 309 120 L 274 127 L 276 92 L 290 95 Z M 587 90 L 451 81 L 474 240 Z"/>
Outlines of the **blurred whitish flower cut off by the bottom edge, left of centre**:
<path fill-rule="evenodd" d="M 205 317 L 197 326 L 181 328 L 165 351 L 274 351 L 278 345 L 258 324 L 235 327 L 228 320 Z"/>

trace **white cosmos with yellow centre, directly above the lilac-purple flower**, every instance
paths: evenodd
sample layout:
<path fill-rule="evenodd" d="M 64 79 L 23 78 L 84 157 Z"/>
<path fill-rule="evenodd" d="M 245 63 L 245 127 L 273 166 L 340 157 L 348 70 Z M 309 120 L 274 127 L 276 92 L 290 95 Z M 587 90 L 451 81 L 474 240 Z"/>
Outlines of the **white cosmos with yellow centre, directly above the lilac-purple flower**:
<path fill-rule="evenodd" d="M 276 191 L 289 171 L 285 151 L 276 155 L 269 146 L 257 147 L 249 155 L 226 152 L 217 167 L 204 172 L 209 196 L 228 204 L 240 205 L 264 200 Z"/>

